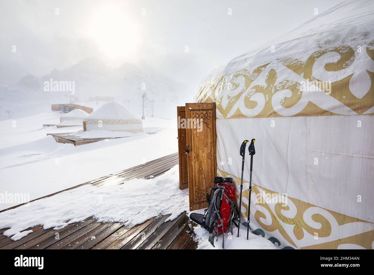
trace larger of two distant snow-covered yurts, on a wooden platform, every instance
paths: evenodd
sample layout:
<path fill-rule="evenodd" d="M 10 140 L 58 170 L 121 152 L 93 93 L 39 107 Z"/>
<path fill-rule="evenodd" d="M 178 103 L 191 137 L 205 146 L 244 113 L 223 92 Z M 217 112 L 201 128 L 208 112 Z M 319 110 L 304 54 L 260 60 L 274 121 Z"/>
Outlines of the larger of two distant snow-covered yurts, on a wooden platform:
<path fill-rule="evenodd" d="M 83 122 L 86 130 L 107 130 L 114 132 L 143 132 L 141 119 L 117 101 L 108 101 L 89 114 Z"/>

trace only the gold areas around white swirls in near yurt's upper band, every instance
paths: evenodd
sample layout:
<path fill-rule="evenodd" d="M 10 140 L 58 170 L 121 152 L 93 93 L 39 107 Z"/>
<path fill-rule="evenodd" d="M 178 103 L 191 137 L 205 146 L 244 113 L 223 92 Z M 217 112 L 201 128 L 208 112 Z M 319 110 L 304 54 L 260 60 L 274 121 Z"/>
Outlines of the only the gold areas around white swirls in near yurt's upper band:
<path fill-rule="evenodd" d="M 373 42 L 374 44 L 374 42 Z M 222 76 L 218 79 L 212 80 L 199 88 L 199 91 L 195 97 L 195 101 L 201 102 L 213 102 L 217 104 L 217 110 L 222 117 L 218 118 L 241 118 L 241 117 L 281 117 L 281 116 L 328 116 L 337 114 L 374 114 L 374 50 L 370 50 L 365 47 L 362 51 L 365 51 L 370 63 L 369 68 L 365 70 L 370 76 L 371 88 L 362 97 L 356 97 L 350 91 L 350 81 L 355 73 L 350 74 L 344 79 L 332 82 L 329 89 L 325 87 L 325 91 L 331 91 L 331 94 L 325 93 L 313 93 L 308 98 L 304 98 L 302 102 L 304 106 L 301 110 L 295 110 L 292 113 L 292 107 L 300 105 L 301 98 L 304 92 L 300 92 L 300 81 L 291 79 L 282 79 L 279 83 L 275 84 L 278 78 L 278 73 L 281 71 L 289 70 L 290 73 L 294 73 L 294 76 L 303 81 L 307 82 L 316 81 L 322 83 L 321 80 L 313 77 L 313 65 L 316 60 L 322 55 L 327 53 L 337 53 L 340 55 L 340 59 L 336 63 L 328 63 L 324 66 L 324 70 L 335 72 L 343 71 L 355 62 L 355 51 L 349 46 L 341 46 L 334 49 L 324 49 L 321 51 L 314 52 L 309 56 L 306 62 L 302 62 L 297 59 L 283 59 L 277 62 L 282 63 L 281 66 L 272 68 L 271 63 L 261 65 L 251 73 L 248 70 L 240 70 L 231 77 L 231 81 L 226 81 L 226 77 Z M 283 67 L 282 67 L 283 66 Z M 261 74 L 262 72 L 266 74 Z M 260 78 L 259 78 L 260 77 Z M 243 79 L 244 88 L 239 90 L 239 79 Z M 261 80 L 261 81 L 260 81 Z M 251 84 L 256 81 L 259 84 L 251 87 Z M 351 83 L 352 84 L 352 83 Z M 249 89 L 250 87 L 250 89 Z M 323 86 L 321 86 L 323 87 Z M 291 97 L 283 97 L 280 105 L 285 108 L 290 114 L 282 115 L 275 110 L 275 106 L 272 104 L 273 96 L 277 92 L 283 89 L 291 91 Z M 231 95 L 235 92 L 234 95 Z M 243 113 L 248 110 L 253 110 L 258 103 L 250 100 L 255 94 L 262 94 L 264 98 L 264 107 L 262 110 L 255 115 L 248 115 Z M 321 106 L 325 106 L 323 102 L 328 100 L 330 105 L 334 105 L 331 110 L 325 110 Z M 242 106 L 242 107 L 239 107 Z M 348 109 L 348 108 L 349 109 Z M 352 111 L 353 110 L 353 111 Z M 337 111 L 338 113 L 334 113 Z M 217 112 L 217 113 L 218 113 Z M 340 113 L 339 113 L 340 112 Z"/>

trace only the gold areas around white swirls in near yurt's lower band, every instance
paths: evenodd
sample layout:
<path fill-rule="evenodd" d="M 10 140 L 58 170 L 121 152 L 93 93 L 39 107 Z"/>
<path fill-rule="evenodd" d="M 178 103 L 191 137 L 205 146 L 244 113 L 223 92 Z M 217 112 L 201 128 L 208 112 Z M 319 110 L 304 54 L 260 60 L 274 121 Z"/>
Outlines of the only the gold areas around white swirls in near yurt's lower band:
<path fill-rule="evenodd" d="M 222 177 L 232 177 L 234 178 L 234 181 L 236 183 L 237 189 L 239 188 L 237 183 L 240 183 L 240 178 L 233 176 L 227 172 L 224 172 L 220 169 L 218 169 L 218 172 Z M 248 181 L 243 180 L 243 183 L 248 183 Z M 372 249 L 371 244 L 374 242 L 374 224 L 370 223 L 365 220 L 360 220 L 354 217 L 350 217 L 341 213 L 337 213 L 322 207 L 318 207 L 316 205 L 312 205 L 308 202 L 301 201 L 299 199 L 287 197 L 288 201 L 291 201 L 291 203 L 296 207 L 296 213 L 294 217 L 289 218 L 284 216 L 281 213 L 281 210 L 289 211 L 290 207 L 288 205 L 282 205 L 281 202 L 275 204 L 274 211 L 269 207 L 269 205 L 265 202 L 265 199 L 262 196 L 262 192 L 265 192 L 267 194 L 278 194 L 278 192 L 274 192 L 268 189 L 265 189 L 263 187 L 257 186 L 255 184 L 252 185 L 252 196 L 253 193 L 257 196 L 258 200 L 254 203 L 254 207 L 260 206 L 260 208 L 255 208 L 254 214 L 252 212 L 251 207 L 251 213 L 255 218 L 255 221 L 257 224 L 262 227 L 263 230 L 266 230 L 268 234 L 271 236 L 272 232 L 275 232 L 276 230 L 279 231 L 279 233 L 282 235 L 282 237 L 289 242 L 291 245 L 293 245 L 295 248 L 302 248 L 302 249 L 337 249 L 339 245 L 342 244 L 354 244 L 359 245 L 361 247 Z M 248 189 L 243 191 L 243 198 L 248 197 Z M 236 198 L 239 200 L 239 194 L 236 195 Z M 252 204 L 253 200 L 251 201 Z M 247 211 L 248 211 L 248 205 L 245 204 L 245 202 L 242 201 L 242 207 L 245 208 L 245 212 L 241 212 L 242 217 L 247 217 Z M 321 224 L 321 228 L 313 228 L 312 226 L 308 225 L 307 222 L 304 220 L 304 215 L 307 211 L 309 211 L 312 208 L 320 209 L 322 210 L 321 213 L 325 213 L 325 215 L 331 216 L 334 219 L 334 223 L 338 224 L 338 226 L 342 226 L 344 224 L 349 223 L 357 223 L 358 228 L 359 224 L 365 223 L 373 228 L 373 230 L 368 230 L 367 232 L 356 232 L 353 233 L 352 236 L 348 237 L 339 237 L 338 235 L 332 235 L 332 225 L 331 221 L 327 217 L 325 217 L 321 213 L 314 213 L 312 214 L 311 218 L 314 222 Z M 259 210 L 262 209 L 262 210 Z M 265 224 L 261 221 L 261 219 L 266 219 L 266 213 L 264 211 L 267 211 L 267 213 L 271 217 L 271 224 Z M 282 223 L 294 225 L 292 232 L 289 232 L 285 229 L 284 226 L 282 226 Z M 251 223 L 252 224 L 252 223 Z M 308 233 L 310 236 L 315 236 L 316 233 L 318 233 L 318 238 L 324 238 L 324 237 L 333 237 L 334 240 L 322 242 L 320 244 L 310 244 L 302 247 L 298 247 L 293 239 L 296 239 L 300 241 L 304 238 L 304 232 Z M 292 234 L 291 234 L 292 233 Z M 335 232 L 336 233 L 336 232 Z M 291 235 L 290 235 L 291 234 Z"/>

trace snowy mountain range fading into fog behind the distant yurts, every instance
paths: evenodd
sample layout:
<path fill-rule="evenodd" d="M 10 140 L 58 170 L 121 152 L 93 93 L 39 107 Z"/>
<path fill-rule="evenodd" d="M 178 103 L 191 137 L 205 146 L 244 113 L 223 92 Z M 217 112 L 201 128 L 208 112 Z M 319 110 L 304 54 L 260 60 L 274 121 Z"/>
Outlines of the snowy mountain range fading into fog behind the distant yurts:
<path fill-rule="evenodd" d="M 27 74 L 13 83 L 10 80 L 6 85 L 0 83 L 0 120 L 9 119 L 6 111 L 10 111 L 10 118 L 18 118 L 48 111 L 53 103 L 68 103 L 68 89 L 51 91 L 51 87 L 48 91 L 46 83 L 51 80 L 74 83 L 72 103 L 85 105 L 89 98 L 113 97 L 138 114 L 142 113 L 142 94 L 145 93 L 146 116 L 152 114 L 151 100 L 155 100 L 154 116 L 174 117 L 175 107 L 190 101 L 194 94 L 191 91 L 191 95 L 186 96 L 186 85 L 163 75 L 145 61 L 112 68 L 99 59 L 86 58 L 42 77 Z"/>

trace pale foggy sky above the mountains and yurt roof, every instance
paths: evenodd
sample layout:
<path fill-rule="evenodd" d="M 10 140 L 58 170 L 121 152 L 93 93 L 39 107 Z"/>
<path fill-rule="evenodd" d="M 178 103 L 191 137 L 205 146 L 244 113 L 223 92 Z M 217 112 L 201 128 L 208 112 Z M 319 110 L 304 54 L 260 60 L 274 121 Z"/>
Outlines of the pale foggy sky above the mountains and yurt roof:
<path fill-rule="evenodd" d="M 340 2 L 2 0 L 0 62 L 40 77 L 91 56 L 113 67 L 144 59 L 195 88 L 212 69 Z"/>

